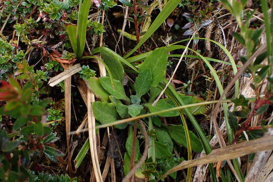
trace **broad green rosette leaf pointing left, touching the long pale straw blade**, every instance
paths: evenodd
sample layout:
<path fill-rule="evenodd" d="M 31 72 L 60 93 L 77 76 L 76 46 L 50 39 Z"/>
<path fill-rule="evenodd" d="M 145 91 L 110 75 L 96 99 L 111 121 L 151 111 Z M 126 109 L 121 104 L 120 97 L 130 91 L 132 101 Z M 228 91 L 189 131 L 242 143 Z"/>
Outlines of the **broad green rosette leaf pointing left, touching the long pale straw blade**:
<path fill-rule="evenodd" d="M 101 124 L 107 124 L 118 120 L 119 115 L 115 110 L 115 106 L 113 103 L 107 102 L 94 102 L 92 103 L 93 112 L 95 118 Z"/>

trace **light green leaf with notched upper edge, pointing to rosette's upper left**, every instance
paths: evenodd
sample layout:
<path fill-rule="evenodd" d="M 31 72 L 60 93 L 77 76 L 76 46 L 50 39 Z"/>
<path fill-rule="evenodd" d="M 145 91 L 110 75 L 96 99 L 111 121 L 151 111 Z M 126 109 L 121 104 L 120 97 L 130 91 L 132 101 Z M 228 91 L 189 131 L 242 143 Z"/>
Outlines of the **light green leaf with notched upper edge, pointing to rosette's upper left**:
<path fill-rule="evenodd" d="M 103 88 L 112 96 L 116 97 L 116 99 L 122 99 L 126 101 L 130 101 L 130 99 L 126 96 L 124 87 L 120 80 L 114 79 L 114 85 L 111 84 L 111 79 L 108 76 L 99 78 L 100 84 Z"/>

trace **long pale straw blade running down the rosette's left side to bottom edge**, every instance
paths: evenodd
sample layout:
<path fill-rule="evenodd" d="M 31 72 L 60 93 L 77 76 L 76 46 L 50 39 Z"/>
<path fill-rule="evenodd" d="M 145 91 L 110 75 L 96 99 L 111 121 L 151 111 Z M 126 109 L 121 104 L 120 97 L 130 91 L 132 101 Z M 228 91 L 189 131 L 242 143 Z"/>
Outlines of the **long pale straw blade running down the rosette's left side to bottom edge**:
<path fill-rule="evenodd" d="M 87 90 L 87 112 L 88 112 L 88 132 L 89 132 L 89 144 L 93 169 L 97 182 L 102 182 L 102 176 L 100 172 L 100 166 L 98 162 L 97 154 L 97 142 L 96 142 L 96 130 L 95 130 L 95 116 L 92 110 L 91 103 L 95 101 L 95 96 L 90 89 Z"/>

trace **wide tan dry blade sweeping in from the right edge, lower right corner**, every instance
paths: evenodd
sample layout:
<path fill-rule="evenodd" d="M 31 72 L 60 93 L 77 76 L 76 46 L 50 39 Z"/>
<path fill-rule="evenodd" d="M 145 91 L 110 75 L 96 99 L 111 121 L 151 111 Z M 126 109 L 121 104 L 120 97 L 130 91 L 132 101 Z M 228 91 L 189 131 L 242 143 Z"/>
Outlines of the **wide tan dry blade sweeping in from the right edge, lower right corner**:
<path fill-rule="evenodd" d="M 235 144 L 235 145 L 215 149 L 212 151 L 212 153 L 210 153 L 209 155 L 203 158 L 184 161 L 180 163 L 179 165 L 170 169 L 162 177 L 165 177 L 175 171 L 185 169 L 188 167 L 193 167 L 197 165 L 208 164 L 208 163 L 213 163 L 218 161 L 224 161 L 228 159 L 235 159 L 238 157 L 245 156 L 247 154 L 264 151 L 264 150 L 270 150 L 270 149 L 273 149 L 272 136 L 263 136 L 262 138 L 255 139 L 252 141 L 242 142 L 240 144 Z"/>

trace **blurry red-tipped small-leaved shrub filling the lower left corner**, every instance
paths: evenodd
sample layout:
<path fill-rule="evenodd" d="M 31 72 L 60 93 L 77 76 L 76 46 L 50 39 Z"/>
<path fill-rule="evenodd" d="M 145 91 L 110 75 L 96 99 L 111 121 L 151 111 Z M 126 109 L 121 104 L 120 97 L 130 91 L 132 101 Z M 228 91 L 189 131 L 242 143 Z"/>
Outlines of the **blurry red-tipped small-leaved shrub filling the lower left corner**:
<path fill-rule="evenodd" d="M 7 102 L 0 108 L 0 114 L 5 116 L 2 122 L 3 125 L 7 119 L 14 122 L 11 133 L 0 129 L 1 181 L 32 179 L 35 175 L 28 168 L 38 165 L 37 158 L 45 155 L 57 162 L 57 157 L 64 155 L 50 146 L 58 138 L 50 127 L 42 124 L 42 115 L 45 114 L 49 101 L 32 101 L 32 91 L 32 81 L 27 81 L 22 88 L 12 77 L 9 78 L 9 83 L 2 81 L 0 99 Z"/>

